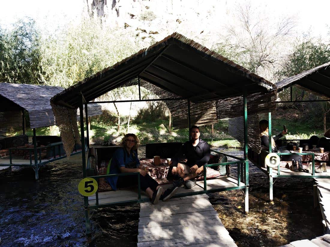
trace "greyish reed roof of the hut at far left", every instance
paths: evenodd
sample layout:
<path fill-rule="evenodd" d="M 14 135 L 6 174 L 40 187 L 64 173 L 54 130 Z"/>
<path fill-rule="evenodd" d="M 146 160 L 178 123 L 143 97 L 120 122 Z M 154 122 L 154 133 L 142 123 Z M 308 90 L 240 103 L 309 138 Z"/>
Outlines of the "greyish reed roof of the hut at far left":
<path fill-rule="evenodd" d="M 61 87 L 0 83 L 0 112 L 17 112 L 24 109 L 29 113 L 31 128 L 55 125 L 50 98 L 63 90 Z M 89 116 L 100 114 L 102 114 L 101 105 L 88 106 Z M 8 125 L 8 118 L 0 116 L 0 124 L 5 121 Z M 22 123 L 21 114 L 16 122 Z"/>

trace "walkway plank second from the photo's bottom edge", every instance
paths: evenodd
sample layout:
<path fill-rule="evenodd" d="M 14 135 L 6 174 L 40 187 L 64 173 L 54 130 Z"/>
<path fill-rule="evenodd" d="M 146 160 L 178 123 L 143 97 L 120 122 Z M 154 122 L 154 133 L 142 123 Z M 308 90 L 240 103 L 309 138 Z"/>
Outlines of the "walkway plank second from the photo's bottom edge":
<path fill-rule="evenodd" d="M 182 226 L 170 226 L 170 227 L 159 227 L 159 228 L 147 228 L 140 230 L 148 230 L 148 232 L 140 232 L 138 235 L 139 242 L 146 242 L 152 240 L 164 240 L 173 238 L 182 238 L 188 236 L 207 236 L 219 234 L 219 236 L 229 236 L 228 231 L 223 225 L 218 223 L 210 224 L 204 229 L 198 226 L 182 227 Z"/>

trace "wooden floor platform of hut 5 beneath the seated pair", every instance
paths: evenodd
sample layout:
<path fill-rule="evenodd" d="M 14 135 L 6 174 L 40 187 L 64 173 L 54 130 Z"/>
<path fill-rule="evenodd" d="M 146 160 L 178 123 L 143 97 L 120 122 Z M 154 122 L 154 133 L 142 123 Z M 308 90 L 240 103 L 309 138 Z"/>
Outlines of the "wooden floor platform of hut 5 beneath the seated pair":
<path fill-rule="evenodd" d="M 241 186 L 245 184 L 241 182 Z M 164 189 L 170 188 L 172 184 L 162 185 Z M 207 180 L 207 189 L 220 189 L 227 187 L 237 186 L 237 180 L 231 177 L 223 177 Z M 186 189 L 184 187 L 180 187 L 176 193 L 176 196 L 183 195 L 187 192 L 198 192 L 204 190 L 204 181 L 198 181 L 197 185 L 192 187 L 191 189 Z M 109 203 L 119 203 L 128 200 L 135 200 L 138 198 L 137 189 L 121 189 L 116 191 L 107 191 L 98 193 L 99 197 L 99 205 L 106 205 Z M 147 198 L 147 195 L 144 192 L 141 192 L 141 199 Z M 95 194 L 88 197 L 88 205 L 95 206 L 96 199 Z"/>

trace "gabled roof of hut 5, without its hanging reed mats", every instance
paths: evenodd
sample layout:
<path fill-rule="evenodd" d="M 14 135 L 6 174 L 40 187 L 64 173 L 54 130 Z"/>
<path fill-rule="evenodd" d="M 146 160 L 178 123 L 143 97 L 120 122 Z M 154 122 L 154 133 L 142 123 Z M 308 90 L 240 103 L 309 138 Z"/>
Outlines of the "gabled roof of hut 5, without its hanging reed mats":
<path fill-rule="evenodd" d="M 274 88 L 264 78 L 174 33 L 64 90 L 53 101 L 77 108 L 80 92 L 90 101 L 138 76 L 193 103 L 242 95 L 243 88 L 248 93 Z"/>

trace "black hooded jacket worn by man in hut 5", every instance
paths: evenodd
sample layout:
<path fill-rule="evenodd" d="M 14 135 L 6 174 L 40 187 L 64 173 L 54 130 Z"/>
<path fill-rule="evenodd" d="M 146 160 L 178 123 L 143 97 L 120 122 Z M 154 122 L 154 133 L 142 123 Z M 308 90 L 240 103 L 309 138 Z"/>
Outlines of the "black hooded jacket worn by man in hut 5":
<path fill-rule="evenodd" d="M 173 166 L 178 166 L 179 158 L 183 155 L 187 158 L 187 165 L 194 166 L 197 164 L 201 167 L 210 160 L 210 146 L 206 141 L 199 139 L 199 143 L 196 147 L 192 146 L 192 141 L 187 141 L 182 145 L 181 150 L 173 158 Z"/>

